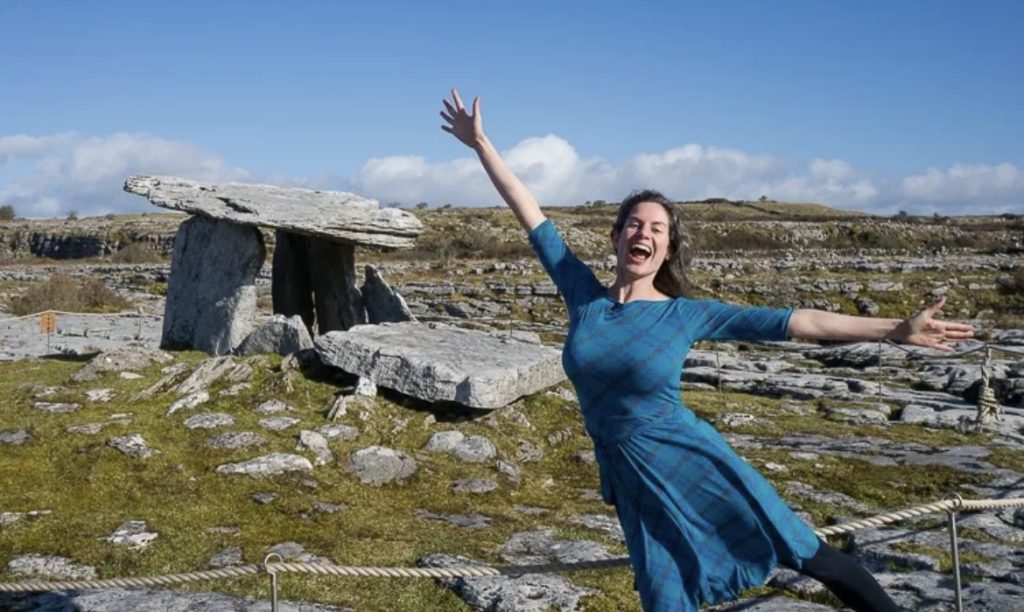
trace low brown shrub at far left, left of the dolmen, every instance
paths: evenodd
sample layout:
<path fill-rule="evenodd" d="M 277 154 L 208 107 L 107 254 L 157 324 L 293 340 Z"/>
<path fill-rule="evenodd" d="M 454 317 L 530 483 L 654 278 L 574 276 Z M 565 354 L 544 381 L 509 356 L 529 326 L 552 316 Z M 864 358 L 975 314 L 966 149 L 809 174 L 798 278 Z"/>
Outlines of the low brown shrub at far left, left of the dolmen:
<path fill-rule="evenodd" d="M 44 310 L 118 312 L 129 306 L 131 303 L 106 287 L 101 278 L 76 278 L 67 272 L 56 272 L 7 300 L 7 310 L 15 316 Z"/>

